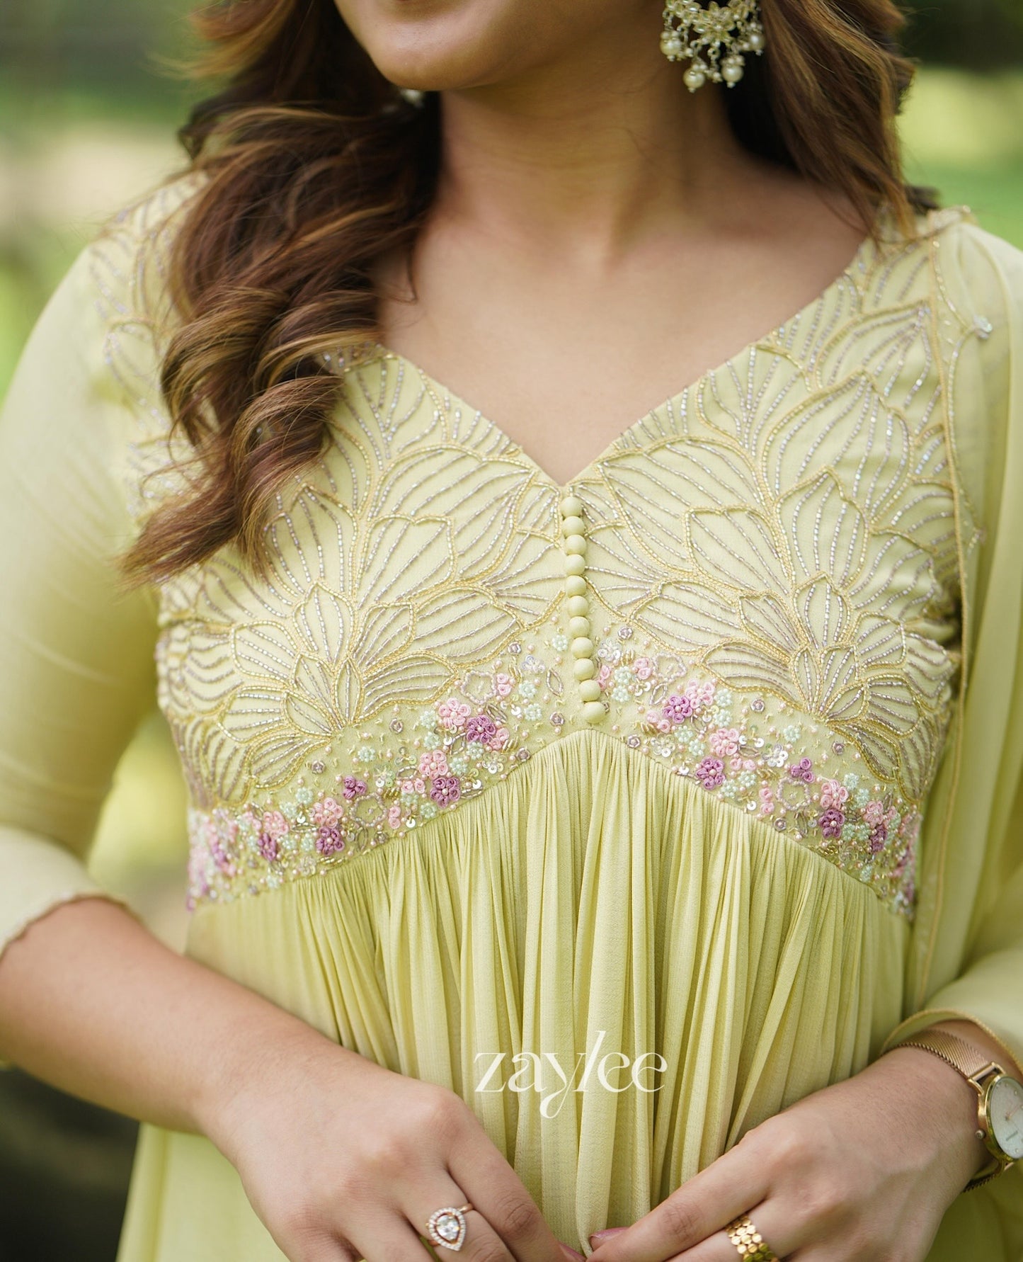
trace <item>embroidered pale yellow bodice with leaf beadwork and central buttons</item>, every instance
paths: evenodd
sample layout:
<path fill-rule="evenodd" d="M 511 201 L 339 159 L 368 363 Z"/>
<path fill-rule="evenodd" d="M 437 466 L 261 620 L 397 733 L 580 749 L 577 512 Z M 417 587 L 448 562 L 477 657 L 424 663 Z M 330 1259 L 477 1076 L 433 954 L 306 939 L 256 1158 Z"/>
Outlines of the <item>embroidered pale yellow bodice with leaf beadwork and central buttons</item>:
<path fill-rule="evenodd" d="M 327 872 L 597 738 L 912 915 L 959 666 L 936 318 L 927 235 L 868 242 L 570 487 L 401 356 L 349 366 L 269 579 L 228 549 L 161 588 L 192 905 Z"/>

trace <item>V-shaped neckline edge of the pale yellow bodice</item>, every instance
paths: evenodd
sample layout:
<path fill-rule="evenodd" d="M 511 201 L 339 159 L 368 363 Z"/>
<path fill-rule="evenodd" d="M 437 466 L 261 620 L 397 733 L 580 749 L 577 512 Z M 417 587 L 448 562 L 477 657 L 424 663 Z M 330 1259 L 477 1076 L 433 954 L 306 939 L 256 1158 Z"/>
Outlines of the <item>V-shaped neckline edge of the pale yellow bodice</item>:
<path fill-rule="evenodd" d="M 481 408 L 477 408 L 474 404 L 469 403 L 469 400 L 464 399 L 462 395 L 455 394 L 455 391 L 445 386 L 443 381 L 439 381 L 424 367 L 421 367 L 414 360 L 410 360 L 406 355 L 402 355 L 400 351 L 392 351 L 389 346 L 385 346 L 382 342 L 376 342 L 376 341 L 370 342 L 368 346 L 371 353 L 368 358 L 363 360 L 362 362 L 391 360 L 404 366 L 404 369 L 406 369 L 409 372 L 419 376 L 423 380 L 428 391 L 438 401 L 443 401 L 443 405 L 448 411 L 460 410 L 472 415 L 478 422 L 478 424 L 481 424 L 492 437 L 500 438 L 502 440 L 503 449 L 506 452 L 508 451 L 512 452 L 525 466 L 527 466 L 529 469 L 532 472 L 534 477 L 537 478 L 537 481 L 542 482 L 546 487 L 558 491 L 560 495 L 568 495 L 573 491 L 575 483 L 584 482 L 595 471 L 598 464 L 602 464 L 604 461 L 609 459 L 612 456 L 622 451 L 627 445 L 628 440 L 640 430 L 641 427 L 648 424 L 650 420 L 652 419 L 656 420 L 658 418 L 662 418 L 665 413 L 672 414 L 677 411 L 677 409 L 681 406 L 682 401 L 687 395 L 693 394 L 694 391 L 701 390 L 708 382 L 716 379 L 723 372 L 729 372 L 730 370 L 737 369 L 742 360 L 745 360 L 751 355 L 756 353 L 758 348 L 766 346 L 767 343 L 780 341 L 781 337 L 785 334 L 785 332 L 790 328 L 790 326 L 796 323 L 802 323 L 807 316 L 815 312 L 822 303 L 827 302 L 827 299 L 833 294 L 838 293 L 843 288 L 843 285 L 845 285 L 848 281 L 853 281 L 855 284 L 855 273 L 860 270 L 862 262 L 867 257 L 873 245 L 874 245 L 873 233 L 865 236 L 860 241 L 859 246 L 856 247 L 856 252 L 849 260 L 846 266 L 843 268 L 839 275 L 835 276 L 835 279 L 831 280 L 830 284 L 827 284 L 817 294 L 816 298 L 812 298 L 809 303 L 806 303 L 805 307 L 801 307 L 800 310 L 793 312 L 792 316 L 782 321 L 780 324 L 776 324 L 775 328 L 769 329 L 767 333 L 763 333 L 753 342 L 747 343 L 744 347 L 742 347 L 742 350 L 737 351 L 735 355 L 730 356 L 728 360 L 724 360 L 724 362 L 719 363 L 716 367 L 708 369 L 705 372 L 701 372 L 695 380 L 690 381 L 689 385 L 686 385 L 684 389 L 676 391 L 674 395 L 665 399 L 662 403 L 651 408 L 650 411 L 646 411 L 641 416 L 637 416 L 636 420 L 633 420 L 629 425 L 627 425 L 616 438 L 613 438 L 604 447 L 603 451 L 598 452 L 592 461 L 584 464 L 583 468 L 578 471 L 578 473 L 575 473 L 571 478 L 569 478 L 568 482 L 559 482 L 532 456 L 530 456 L 530 453 L 522 447 L 521 443 L 516 442 L 516 439 L 513 439 L 511 434 L 508 434 L 501 425 L 498 425 L 497 422 L 491 420 L 491 418 Z"/>

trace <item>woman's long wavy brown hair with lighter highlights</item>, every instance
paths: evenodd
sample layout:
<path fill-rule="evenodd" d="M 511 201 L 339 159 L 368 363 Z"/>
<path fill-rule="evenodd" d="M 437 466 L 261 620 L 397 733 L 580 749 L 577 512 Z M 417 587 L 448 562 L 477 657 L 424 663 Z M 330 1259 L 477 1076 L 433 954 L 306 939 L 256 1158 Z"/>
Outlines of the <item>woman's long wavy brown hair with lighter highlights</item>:
<path fill-rule="evenodd" d="M 319 456 L 348 355 L 377 337 L 373 264 L 411 250 L 440 162 L 434 95 L 386 82 L 333 0 L 221 0 L 193 19 L 222 90 L 179 138 L 201 173 L 173 241 L 160 386 L 198 476 L 122 559 L 160 579 L 226 544 L 262 568 L 275 496 Z M 843 194 L 873 232 L 933 204 L 907 187 L 896 116 L 913 66 L 892 0 L 763 0 L 768 54 L 727 95 L 757 154 Z"/>

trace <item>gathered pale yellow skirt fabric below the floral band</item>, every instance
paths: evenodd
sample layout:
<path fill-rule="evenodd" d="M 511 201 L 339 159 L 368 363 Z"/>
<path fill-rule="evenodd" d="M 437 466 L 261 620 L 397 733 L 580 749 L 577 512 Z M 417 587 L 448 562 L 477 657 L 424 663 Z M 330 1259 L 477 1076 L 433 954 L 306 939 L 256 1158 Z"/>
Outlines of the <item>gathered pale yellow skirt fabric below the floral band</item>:
<path fill-rule="evenodd" d="M 457 1092 L 582 1249 L 862 1069 L 907 934 L 806 847 L 579 731 L 415 837 L 199 909 L 188 954 Z M 143 1132 L 121 1258 L 280 1257 L 209 1141 Z"/>

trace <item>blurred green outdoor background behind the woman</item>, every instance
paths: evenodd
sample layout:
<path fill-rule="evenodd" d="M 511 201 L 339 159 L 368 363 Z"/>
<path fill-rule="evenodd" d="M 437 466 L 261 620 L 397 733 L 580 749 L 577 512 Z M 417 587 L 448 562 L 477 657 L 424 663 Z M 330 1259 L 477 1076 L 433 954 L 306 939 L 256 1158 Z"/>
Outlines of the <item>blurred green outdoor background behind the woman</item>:
<path fill-rule="evenodd" d="M 102 220 L 174 168 L 189 0 L 0 0 L 0 396 L 49 292 Z M 916 5 L 909 174 L 1023 247 L 1023 0 Z M 59 371 L 59 366 L 56 369 Z M 184 941 L 184 795 L 161 719 L 119 767 L 96 875 Z M 0 1074 L 0 1262 L 112 1262 L 136 1128 Z"/>

